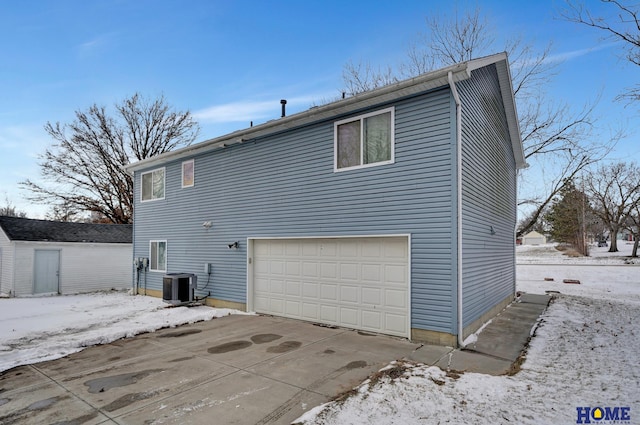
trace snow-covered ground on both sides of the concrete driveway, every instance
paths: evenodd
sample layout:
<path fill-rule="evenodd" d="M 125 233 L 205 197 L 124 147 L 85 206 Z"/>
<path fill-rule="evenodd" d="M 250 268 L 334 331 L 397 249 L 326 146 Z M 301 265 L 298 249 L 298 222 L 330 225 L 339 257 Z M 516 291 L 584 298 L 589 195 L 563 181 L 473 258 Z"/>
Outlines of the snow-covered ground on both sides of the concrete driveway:
<path fill-rule="evenodd" d="M 519 291 L 555 291 L 555 301 L 514 376 L 447 373 L 394 363 L 354 395 L 318 406 L 307 424 L 575 424 L 577 407 L 629 407 L 640 424 L 640 265 L 593 248 L 571 258 L 552 245 L 518 247 Z M 545 280 L 553 279 L 553 280 Z M 562 283 L 578 279 L 580 285 Z M 232 310 L 166 308 L 124 293 L 0 299 L 0 373 L 94 344 Z M 620 411 L 618 411 L 620 412 Z M 611 421 L 591 421 L 610 424 Z"/>

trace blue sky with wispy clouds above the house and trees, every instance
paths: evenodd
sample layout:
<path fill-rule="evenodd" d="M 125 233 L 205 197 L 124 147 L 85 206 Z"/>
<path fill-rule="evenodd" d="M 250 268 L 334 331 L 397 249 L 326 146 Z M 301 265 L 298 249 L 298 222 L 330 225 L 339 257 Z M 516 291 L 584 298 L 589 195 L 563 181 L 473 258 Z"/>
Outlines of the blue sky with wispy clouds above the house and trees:
<path fill-rule="evenodd" d="M 609 10 L 587 0 L 589 7 Z M 599 126 L 624 126 L 614 159 L 640 161 L 640 106 L 614 102 L 640 73 L 619 43 L 558 18 L 562 1 L 458 2 L 480 7 L 496 45 L 522 37 L 553 43 L 562 61 L 545 89 L 576 109 L 600 98 Z M 197 117 L 199 140 L 334 98 L 348 61 L 397 64 L 450 1 L 23 1 L 0 4 L 0 205 L 30 217 L 18 182 L 38 180 L 37 156 L 52 141 L 43 126 L 70 122 L 93 103 L 112 106 L 135 92 L 163 94 Z"/>

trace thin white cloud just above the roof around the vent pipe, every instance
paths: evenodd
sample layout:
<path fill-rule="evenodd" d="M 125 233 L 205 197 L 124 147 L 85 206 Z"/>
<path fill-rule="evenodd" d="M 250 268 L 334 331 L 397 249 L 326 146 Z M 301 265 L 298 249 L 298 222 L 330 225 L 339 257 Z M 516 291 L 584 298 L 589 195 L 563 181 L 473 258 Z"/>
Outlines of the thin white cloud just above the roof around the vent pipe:
<path fill-rule="evenodd" d="M 300 110 L 317 100 L 318 96 L 287 99 L 287 108 Z M 207 123 L 247 122 L 276 118 L 280 113 L 280 99 L 268 101 L 242 101 L 214 105 L 197 110 L 193 117 Z"/>

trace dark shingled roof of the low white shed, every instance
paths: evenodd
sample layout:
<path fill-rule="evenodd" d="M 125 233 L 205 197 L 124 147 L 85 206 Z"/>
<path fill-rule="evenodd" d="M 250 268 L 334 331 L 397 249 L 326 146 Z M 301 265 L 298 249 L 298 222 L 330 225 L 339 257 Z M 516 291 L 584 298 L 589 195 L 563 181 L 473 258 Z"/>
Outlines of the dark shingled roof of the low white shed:
<path fill-rule="evenodd" d="M 13 241 L 131 243 L 131 224 L 68 223 L 0 216 L 0 228 Z"/>

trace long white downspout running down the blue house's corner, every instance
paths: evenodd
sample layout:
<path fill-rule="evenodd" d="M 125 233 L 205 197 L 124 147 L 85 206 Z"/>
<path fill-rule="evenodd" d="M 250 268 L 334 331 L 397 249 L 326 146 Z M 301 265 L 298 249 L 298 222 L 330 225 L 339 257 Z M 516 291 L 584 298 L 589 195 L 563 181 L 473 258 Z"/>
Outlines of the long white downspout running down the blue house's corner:
<path fill-rule="evenodd" d="M 447 80 L 449 81 L 449 87 L 451 87 L 451 93 L 453 99 L 456 102 L 456 189 L 457 189 L 457 202 L 456 202 L 456 216 L 457 216 L 457 274 L 458 274 L 458 347 L 464 347 L 464 335 L 463 335 L 463 323 L 462 323 L 462 103 L 460 102 L 460 96 L 458 96 L 458 90 L 453 82 L 453 72 L 449 71 L 447 74 Z"/>

